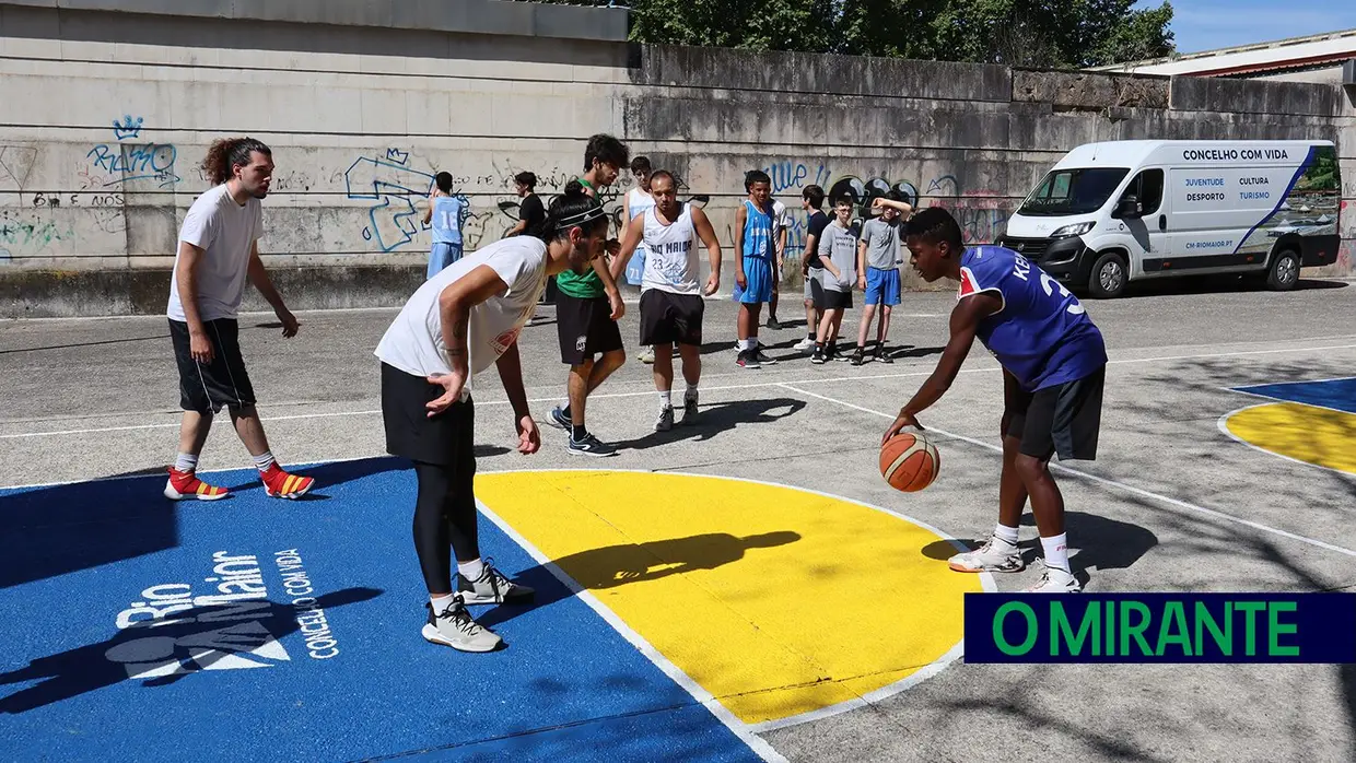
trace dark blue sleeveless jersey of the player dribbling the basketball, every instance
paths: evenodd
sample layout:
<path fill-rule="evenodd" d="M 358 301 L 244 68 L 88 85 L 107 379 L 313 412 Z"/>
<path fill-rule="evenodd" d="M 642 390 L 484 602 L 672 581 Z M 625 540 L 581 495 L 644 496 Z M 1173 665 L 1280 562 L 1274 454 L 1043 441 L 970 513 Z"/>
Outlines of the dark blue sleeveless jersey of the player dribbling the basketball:
<path fill-rule="evenodd" d="M 960 257 L 960 293 L 997 293 L 1003 306 L 979 324 L 979 340 L 1028 390 L 1081 379 L 1106 365 L 1106 346 L 1067 289 L 1003 247 Z"/>

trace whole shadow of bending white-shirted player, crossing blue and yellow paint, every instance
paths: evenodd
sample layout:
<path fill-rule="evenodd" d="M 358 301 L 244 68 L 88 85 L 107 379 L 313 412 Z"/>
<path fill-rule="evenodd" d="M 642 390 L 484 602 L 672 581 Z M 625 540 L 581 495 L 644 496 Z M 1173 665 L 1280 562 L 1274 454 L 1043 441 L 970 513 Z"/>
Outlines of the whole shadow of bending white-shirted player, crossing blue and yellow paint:
<path fill-rule="evenodd" d="M 743 537 L 705 533 L 686 538 L 589 549 L 563 556 L 551 564 L 584 591 L 605 591 L 700 569 L 716 569 L 744 558 L 753 549 L 785 546 L 799 539 L 800 534 L 791 530 Z M 570 588 L 560 584 L 546 565 L 526 569 L 515 580 L 537 588 L 537 600 L 529 607 L 496 607 L 477 618 L 481 625 L 494 626 L 523 611 L 546 607 L 574 595 Z"/>

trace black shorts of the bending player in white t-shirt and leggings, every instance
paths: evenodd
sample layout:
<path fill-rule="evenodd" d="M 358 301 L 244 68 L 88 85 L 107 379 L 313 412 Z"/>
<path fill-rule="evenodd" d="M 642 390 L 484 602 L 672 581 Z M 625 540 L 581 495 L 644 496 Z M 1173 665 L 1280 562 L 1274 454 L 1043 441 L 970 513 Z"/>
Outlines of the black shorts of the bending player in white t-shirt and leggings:
<path fill-rule="evenodd" d="M 428 417 L 426 405 L 443 388 L 381 365 L 381 420 L 386 427 L 386 453 L 420 463 L 475 469 L 476 408 L 468 394 L 442 413 Z"/>

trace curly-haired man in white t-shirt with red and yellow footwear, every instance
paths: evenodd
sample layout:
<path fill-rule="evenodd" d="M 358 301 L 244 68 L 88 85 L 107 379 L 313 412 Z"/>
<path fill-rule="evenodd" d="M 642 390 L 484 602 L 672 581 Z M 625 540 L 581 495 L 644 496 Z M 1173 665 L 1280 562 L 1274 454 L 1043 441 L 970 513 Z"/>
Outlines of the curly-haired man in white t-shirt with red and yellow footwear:
<path fill-rule="evenodd" d="M 203 482 L 197 470 L 212 417 L 228 408 L 264 491 L 274 497 L 296 499 L 315 487 L 315 480 L 289 474 L 274 461 L 240 355 L 236 323 L 248 275 L 278 314 L 282 335 L 296 336 L 300 327 L 259 259 L 263 234 L 259 202 L 268 195 L 273 152 L 254 138 L 224 138 L 212 144 L 202 165 L 213 187 L 184 215 L 165 309 L 179 366 L 183 423 L 179 455 L 170 468 L 164 495 L 171 500 L 226 497 L 225 488 Z"/>

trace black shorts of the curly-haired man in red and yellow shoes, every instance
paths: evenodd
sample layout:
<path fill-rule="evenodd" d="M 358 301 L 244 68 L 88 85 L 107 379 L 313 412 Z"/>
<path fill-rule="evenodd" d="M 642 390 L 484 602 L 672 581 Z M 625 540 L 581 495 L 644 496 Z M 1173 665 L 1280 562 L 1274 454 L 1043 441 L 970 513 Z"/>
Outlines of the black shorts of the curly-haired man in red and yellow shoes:
<path fill-rule="evenodd" d="M 179 366 L 179 407 L 212 415 L 222 408 L 240 411 L 255 404 L 254 385 L 240 356 L 240 327 L 235 318 L 203 321 L 212 343 L 212 362 L 193 359 L 188 324 L 170 318 L 170 342 Z"/>

